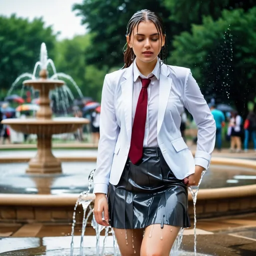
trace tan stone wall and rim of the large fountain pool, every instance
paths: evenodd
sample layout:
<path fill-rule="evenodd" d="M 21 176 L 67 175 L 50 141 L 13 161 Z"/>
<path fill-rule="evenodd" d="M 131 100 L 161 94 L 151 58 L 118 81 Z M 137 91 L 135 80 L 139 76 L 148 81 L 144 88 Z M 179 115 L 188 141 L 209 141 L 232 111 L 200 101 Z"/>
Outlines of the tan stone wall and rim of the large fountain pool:
<path fill-rule="evenodd" d="M 77 155 L 79 155 L 77 153 Z M 81 155 L 81 153 L 80 153 Z M 68 162 L 76 161 L 86 162 L 93 161 L 96 156 L 59 156 L 58 159 Z M 19 158 L 21 161 L 21 157 Z M 16 160 L 18 160 L 16 158 Z M 0 158 L 0 162 L 9 162 L 5 156 Z M 75 163 L 74 163 L 75 164 Z M 90 163 L 91 164 L 91 163 Z M 241 166 L 244 168 L 256 169 L 256 162 L 252 160 L 230 159 L 221 157 L 212 157 L 211 166 L 214 164 L 228 166 Z M 75 165 L 74 165 L 75 166 Z M 75 167 L 70 168 L 70 173 L 75 171 Z M 64 172 L 65 173 L 65 172 Z M 223 171 L 225 173 L 225 171 Z M 221 173 L 218 173 L 219 176 Z M 70 175 L 70 174 L 69 174 Z M 84 174 L 84 189 L 86 190 L 87 176 Z M 206 177 L 206 176 L 205 176 Z M 3 175 L 3 179 L 8 178 Z M 31 179 L 33 180 L 33 176 Z M 54 177 L 55 178 L 55 177 Z M 80 179 L 83 177 L 81 176 Z M 40 184 L 42 180 L 38 179 Z M 240 185 L 219 188 L 203 188 L 199 189 L 196 202 L 197 218 L 226 216 L 230 214 L 241 214 L 254 212 L 256 210 L 256 184 Z M 21 193 L 0 193 L 0 221 L 2 222 L 72 222 L 73 207 L 78 197 L 78 193 L 65 194 L 21 194 Z M 91 199 L 94 198 L 90 194 Z M 193 218 L 193 203 L 189 193 L 188 196 L 189 215 Z M 77 211 L 77 222 L 82 220 L 82 208 Z M 89 222 L 88 222 L 89 223 Z"/>

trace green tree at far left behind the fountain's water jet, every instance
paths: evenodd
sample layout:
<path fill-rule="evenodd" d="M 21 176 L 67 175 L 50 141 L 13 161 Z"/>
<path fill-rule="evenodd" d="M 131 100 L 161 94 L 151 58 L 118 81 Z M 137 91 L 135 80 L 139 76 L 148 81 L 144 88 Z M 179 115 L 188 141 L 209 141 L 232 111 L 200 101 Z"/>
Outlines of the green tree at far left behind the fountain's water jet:
<path fill-rule="evenodd" d="M 50 56 L 54 55 L 55 34 L 45 27 L 41 18 L 29 22 L 11 15 L 0 16 L 0 88 L 6 90 L 15 78 L 33 71 L 39 60 L 40 45 L 46 43 Z"/>

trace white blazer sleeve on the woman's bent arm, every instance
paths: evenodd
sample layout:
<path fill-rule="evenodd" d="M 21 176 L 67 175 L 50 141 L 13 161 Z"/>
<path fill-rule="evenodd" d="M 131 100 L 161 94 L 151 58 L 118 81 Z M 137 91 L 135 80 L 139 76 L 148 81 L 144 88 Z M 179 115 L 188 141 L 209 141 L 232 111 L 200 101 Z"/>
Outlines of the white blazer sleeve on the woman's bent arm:
<path fill-rule="evenodd" d="M 216 124 L 190 69 L 188 69 L 185 78 L 184 104 L 198 127 L 195 165 L 207 169 L 215 145 Z"/>

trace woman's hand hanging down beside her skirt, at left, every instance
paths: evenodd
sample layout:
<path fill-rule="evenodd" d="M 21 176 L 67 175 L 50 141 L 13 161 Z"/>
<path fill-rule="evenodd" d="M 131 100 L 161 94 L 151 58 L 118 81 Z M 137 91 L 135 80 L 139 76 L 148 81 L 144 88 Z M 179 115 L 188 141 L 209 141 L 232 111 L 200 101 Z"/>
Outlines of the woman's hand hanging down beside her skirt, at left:
<path fill-rule="evenodd" d="M 95 193 L 94 200 L 94 216 L 98 224 L 102 226 L 109 226 L 108 223 L 108 203 L 106 195 L 104 193 Z M 102 219 L 102 212 L 104 212 L 104 218 Z"/>

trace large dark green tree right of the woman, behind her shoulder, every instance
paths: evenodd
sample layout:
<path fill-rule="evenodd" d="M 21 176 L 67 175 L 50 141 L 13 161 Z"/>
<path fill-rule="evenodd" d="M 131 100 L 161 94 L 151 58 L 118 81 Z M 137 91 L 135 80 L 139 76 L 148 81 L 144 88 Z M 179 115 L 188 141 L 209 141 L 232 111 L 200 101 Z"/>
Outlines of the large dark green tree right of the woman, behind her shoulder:
<path fill-rule="evenodd" d="M 192 25 L 191 33 L 175 37 L 169 60 L 190 67 L 206 95 L 232 101 L 243 113 L 244 102 L 256 92 L 255 27 L 256 7 L 223 10 L 216 21 L 204 17 L 202 25 Z"/>

